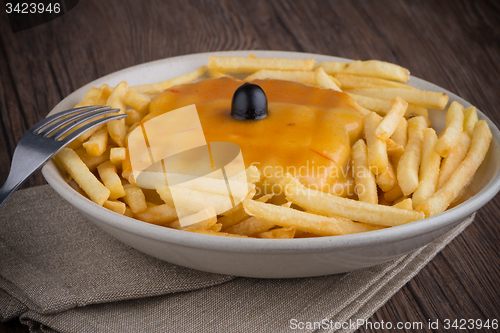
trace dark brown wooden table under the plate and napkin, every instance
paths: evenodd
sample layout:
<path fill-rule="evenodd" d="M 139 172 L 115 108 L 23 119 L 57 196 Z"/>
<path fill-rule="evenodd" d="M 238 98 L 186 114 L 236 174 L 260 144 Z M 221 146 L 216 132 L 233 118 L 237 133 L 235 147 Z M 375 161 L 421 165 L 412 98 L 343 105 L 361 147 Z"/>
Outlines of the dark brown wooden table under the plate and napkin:
<path fill-rule="evenodd" d="M 128 66 L 197 52 L 269 49 L 385 60 L 462 96 L 500 124 L 495 0 L 88 0 L 17 33 L 1 15 L 0 183 L 22 134 L 72 91 Z M 36 173 L 24 187 L 41 184 Z M 500 319 L 499 213 L 497 196 L 371 320 Z M 0 331 L 28 329 L 12 320 Z M 453 331 L 467 330 L 447 332 Z"/>

